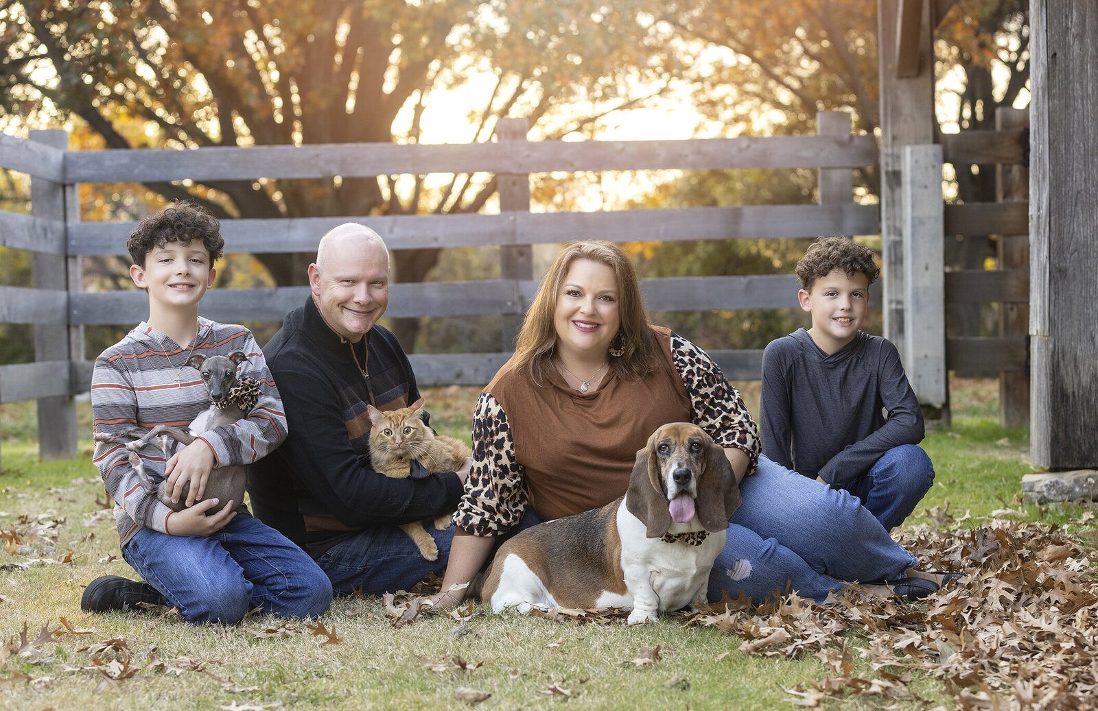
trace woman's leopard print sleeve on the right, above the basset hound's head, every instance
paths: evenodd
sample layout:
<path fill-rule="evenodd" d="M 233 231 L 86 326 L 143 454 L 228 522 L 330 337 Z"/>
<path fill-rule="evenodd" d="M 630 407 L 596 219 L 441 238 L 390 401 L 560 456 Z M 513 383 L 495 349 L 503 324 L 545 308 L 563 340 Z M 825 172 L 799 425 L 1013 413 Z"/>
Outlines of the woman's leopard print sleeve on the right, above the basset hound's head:
<path fill-rule="evenodd" d="M 692 419 L 720 447 L 748 453 L 748 474 L 759 464 L 759 429 L 731 383 L 709 354 L 682 336 L 671 334 L 671 360 L 690 396 Z"/>

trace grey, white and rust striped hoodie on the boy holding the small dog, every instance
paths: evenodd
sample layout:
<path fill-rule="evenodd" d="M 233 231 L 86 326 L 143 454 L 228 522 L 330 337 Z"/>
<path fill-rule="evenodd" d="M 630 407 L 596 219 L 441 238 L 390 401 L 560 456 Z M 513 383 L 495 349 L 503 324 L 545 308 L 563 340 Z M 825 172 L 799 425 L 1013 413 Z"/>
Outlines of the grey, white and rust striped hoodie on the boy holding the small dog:
<path fill-rule="evenodd" d="M 236 350 L 248 357 L 240 364 L 240 376 L 259 382 L 259 402 L 246 418 L 210 430 L 201 439 L 213 450 L 215 467 L 255 462 L 285 438 L 282 399 L 251 331 L 244 326 L 219 324 L 202 317 L 199 317 L 195 346 L 190 351 L 142 321 L 96 359 L 91 376 L 96 431 L 120 432 L 134 425 L 186 428 L 210 406 L 210 397 L 198 371 L 183 363 L 192 352 L 209 357 L 227 356 Z M 149 444 L 142 450 L 141 456 L 147 474 L 157 481 L 164 478 L 167 460 L 159 447 Z M 146 493 L 130 465 L 126 449 L 116 442 L 97 443 L 93 461 L 103 478 L 103 487 L 114 498 L 120 544 L 124 546 L 142 526 L 164 532 L 171 509 Z"/>

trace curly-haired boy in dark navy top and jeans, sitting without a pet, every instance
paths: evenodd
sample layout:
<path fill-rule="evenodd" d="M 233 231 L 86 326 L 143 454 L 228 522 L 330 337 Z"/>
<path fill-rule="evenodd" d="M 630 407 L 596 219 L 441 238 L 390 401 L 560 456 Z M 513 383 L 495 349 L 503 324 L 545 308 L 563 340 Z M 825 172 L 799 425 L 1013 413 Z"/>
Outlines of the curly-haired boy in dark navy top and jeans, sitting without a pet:
<path fill-rule="evenodd" d="M 786 469 L 859 497 L 886 529 L 899 526 L 933 483 L 922 411 L 896 347 L 862 332 L 873 252 L 821 237 L 797 262 L 811 327 L 762 357 L 763 453 Z"/>

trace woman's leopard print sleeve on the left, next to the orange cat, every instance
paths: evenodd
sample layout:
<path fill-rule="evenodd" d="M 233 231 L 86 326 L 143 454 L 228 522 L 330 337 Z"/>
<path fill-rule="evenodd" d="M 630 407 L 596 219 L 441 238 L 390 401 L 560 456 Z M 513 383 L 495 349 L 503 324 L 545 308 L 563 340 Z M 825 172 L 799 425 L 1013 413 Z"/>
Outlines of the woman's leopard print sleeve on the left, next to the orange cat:
<path fill-rule="evenodd" d="M 498 535 L 522 520 L 526 489 L 507 414 L 490 393 L 477 402 L 472 440 L 473 465 L 453 522 L 473 535 Z"/>

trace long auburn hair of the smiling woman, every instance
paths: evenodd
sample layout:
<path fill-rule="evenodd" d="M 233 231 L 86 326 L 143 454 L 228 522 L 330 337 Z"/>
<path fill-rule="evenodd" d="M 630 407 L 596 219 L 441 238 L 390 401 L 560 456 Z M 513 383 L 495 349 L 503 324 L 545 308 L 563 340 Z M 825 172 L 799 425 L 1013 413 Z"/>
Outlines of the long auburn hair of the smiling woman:
<path fill-rule="evenodd" d="M 625 353 L 609 356 L 610 368 L 618 377 L 640 380 L 656 366 L 656 338 L 641 300 L 637 270 L 621 248 L 608 241 L 576 241 L 565 245 L 541 280 L 534 303 L 526 312 L 512 366 L 516 371 L 527 371 L 535 383 L 541 384 L 557 350 L 557 329 L 553 326 L 557 297 L 568 276 L 568 270 L 578 259 L 606 264 L 614 270 L 618 287 L 618 316 L 621 321 L 615 339 L 624 339 Z"/>

